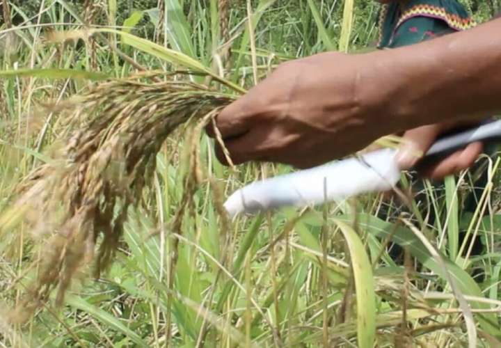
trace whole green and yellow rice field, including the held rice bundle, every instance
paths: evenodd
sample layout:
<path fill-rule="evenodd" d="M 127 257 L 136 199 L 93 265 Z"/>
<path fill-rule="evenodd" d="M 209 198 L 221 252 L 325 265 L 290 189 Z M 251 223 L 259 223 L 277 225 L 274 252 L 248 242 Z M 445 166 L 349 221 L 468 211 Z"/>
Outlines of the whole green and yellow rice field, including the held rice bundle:
<path fill-rule="evenodd" d="M 375 1 L 0 9 L 1 347 L 501 347 L 495 155 L 406 199 L 223 209 L 292 168 L 222 166 L 205 125 L 284 61 L 367 50 Z"/>

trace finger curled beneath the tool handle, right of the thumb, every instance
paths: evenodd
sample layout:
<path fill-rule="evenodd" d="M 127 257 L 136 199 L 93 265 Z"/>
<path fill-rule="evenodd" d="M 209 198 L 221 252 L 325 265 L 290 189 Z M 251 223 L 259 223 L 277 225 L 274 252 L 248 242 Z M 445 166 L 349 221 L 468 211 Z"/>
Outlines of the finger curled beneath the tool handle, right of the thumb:
<path fill-rule="evenodd" d="M 452 155 L 422 171 L 422 175 L 433 180 L 440 180 L 447 175 L 459 173 L 470 168 L 482 154 L 482 143 L 471 143 L 466 148 L 454 152 Z"/>

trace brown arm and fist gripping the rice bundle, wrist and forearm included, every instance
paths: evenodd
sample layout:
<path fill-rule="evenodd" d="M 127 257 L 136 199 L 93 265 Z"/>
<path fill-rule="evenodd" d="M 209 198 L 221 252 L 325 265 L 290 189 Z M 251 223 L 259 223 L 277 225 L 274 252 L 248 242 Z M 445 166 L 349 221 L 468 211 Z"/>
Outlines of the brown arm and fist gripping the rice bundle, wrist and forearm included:
<path fill-rule="evenodd" d="M 385 134 L 479 120 L 501 109 L 501 35 L 495 33 L 501 33 L 501 19 L 419 45 L 285 63 L 224 109 L 216 123 L 236 164 L 275 161 L 307 168 Z M 434 138 L 418 148 L 426 151 Z M 445 159 L 452 161 L 447 170 L 434 176 L 469 165 L 476 155 L 471 159 L 468 152 L 478 149 L 473 144 L 466 154 L 453 154 Z M 402 161 L 403 168 L 409 164 Z"/>

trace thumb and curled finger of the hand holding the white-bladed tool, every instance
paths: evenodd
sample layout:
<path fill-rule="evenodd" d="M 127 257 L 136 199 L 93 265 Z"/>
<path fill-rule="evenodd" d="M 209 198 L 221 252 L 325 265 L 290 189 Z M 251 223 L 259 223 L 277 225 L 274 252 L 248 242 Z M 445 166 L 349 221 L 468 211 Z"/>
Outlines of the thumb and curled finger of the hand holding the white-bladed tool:
<path fill-rule="evenodd" d="M 397 155 L 400 168 L 409 169 L 418 164 L 420 174 L 433 180 L 439 180 L 447 175 L 459 173 L 464 169 L 470 168 L 482 153 L 483 145 L 480 142 L 470 143 L 466 148 L 457 150 L 444 159 L 440 159 L 440 161 L 419 166 L 420 156 L 429 150 L 438 136 L 457 126 L 457 123 L 442 123 L 408 130 L 404 134 L 406 143 Z"/>

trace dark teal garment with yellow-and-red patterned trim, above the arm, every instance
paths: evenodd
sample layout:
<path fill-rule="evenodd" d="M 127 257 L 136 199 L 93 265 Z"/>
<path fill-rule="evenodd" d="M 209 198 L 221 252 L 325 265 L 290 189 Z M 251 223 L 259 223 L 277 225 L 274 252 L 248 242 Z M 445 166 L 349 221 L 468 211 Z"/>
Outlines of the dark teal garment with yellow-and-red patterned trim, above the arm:
<path fill-rule="evenodd" d="M 395 0 L 381 9 L 378 47 L 411 45 L 475 25 L 456 0 Z"/>

